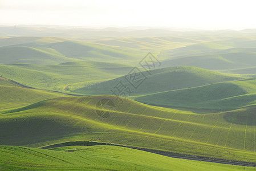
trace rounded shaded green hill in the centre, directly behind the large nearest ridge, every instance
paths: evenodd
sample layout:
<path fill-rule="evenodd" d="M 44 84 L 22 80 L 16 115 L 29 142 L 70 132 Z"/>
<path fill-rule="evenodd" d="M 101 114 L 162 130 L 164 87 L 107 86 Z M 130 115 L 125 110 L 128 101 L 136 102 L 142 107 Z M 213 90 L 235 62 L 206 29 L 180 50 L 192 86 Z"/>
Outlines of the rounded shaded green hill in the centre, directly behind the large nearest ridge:
<path fill-rule="evenodd" d="M 107 82 L 80 88 L 74 92 L 89 95 L 111 94 L 111 90 L 115 91 L 115 87 L 118 87 L 121 81 L 121 83 L 131 89 L 131 96 L 136 96 L 241 79 L 239 77 L 227 76 L 218 72 L 189 66 L 160 68 L 152 70 L 150 74 L 147 71 L 143 71 L 142 73 L 138 72 L 138 75 L 137 78 L 134 78 L 134 75 L 131 75 L 131 77 L 130 75 L 122 76 Z M 132 81 L 133 79 L 135 81 Z M 137 80 L 140 79 L 144 80 L 144 82 L 136 84 Z M 137 89 L 133 88 L 133 86 L 137 86 Z M 129 96 L 128 92 L 126 96 Z"/>

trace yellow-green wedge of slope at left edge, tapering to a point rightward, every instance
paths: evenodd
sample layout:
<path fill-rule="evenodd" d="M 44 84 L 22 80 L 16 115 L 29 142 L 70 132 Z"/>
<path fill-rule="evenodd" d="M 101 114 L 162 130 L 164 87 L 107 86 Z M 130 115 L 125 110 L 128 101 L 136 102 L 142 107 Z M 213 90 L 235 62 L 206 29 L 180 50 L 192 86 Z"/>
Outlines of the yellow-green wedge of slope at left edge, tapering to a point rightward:
<path fill-rule="evenodd" d="M 68 97 L 68 95 L 39 89 L 0 86 L 0 111 L 3 109 L 23 107 L 38 101 L 56 97 Z"/>

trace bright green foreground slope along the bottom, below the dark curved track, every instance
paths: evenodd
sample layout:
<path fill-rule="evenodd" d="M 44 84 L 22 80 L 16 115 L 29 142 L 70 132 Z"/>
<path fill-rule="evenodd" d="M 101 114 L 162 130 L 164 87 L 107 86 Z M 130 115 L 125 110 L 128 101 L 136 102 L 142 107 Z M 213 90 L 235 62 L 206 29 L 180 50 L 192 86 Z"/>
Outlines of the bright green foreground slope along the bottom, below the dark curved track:
<path fill-rule="evenodd" d="M 51 150 L 0 146 L 0 154 L 0 169 L 4 170 L 254 170 L 120 146 L 68 146 Z"/>

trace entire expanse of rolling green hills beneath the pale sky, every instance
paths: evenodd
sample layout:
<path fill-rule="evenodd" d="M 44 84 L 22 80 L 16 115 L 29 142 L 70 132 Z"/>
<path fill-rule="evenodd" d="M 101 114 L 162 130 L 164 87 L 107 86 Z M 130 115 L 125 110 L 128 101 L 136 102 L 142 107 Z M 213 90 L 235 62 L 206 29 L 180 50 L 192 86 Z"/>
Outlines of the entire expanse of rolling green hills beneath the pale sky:
<path fill-rule="evenodd" d="M 17 29 L 0 170 L 255 170 L 255 30 Z"/>

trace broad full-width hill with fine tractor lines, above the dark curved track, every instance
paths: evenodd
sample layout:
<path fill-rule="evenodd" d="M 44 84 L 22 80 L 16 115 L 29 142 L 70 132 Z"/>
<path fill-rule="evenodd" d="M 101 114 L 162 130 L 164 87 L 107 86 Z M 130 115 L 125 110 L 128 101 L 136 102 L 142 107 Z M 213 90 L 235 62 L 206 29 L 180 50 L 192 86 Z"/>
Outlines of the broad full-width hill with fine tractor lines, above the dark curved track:
<path fill-rule="evenodd" d="M 0 144 L 44 146 L 90 140 L 256 161 L 251 156 L 256 143 L 254 107 L 198 114 L 121 99 L 62 97 L 2 113 Z"/>

